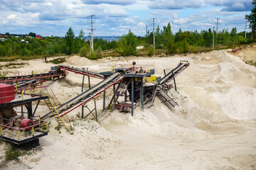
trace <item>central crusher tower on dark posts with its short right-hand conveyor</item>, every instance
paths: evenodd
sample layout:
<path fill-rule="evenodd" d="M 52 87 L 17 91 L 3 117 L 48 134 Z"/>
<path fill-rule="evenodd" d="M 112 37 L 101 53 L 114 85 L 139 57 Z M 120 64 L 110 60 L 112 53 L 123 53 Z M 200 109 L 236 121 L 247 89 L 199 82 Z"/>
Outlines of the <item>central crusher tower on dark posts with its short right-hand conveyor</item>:
<path fill-rule="evenodd" d="M 161 78 L 153 75 L 153 69 L 145 73 L 142 67 L 135 67 L 134 63 L 134 66 L 129 68 L 130 72 L 124 73 L 124 79 L 114 89 L 114 94 L 107 109 L 117 108 L 121 112 L 132 112 L 132 115 L 134 115 L 134 108 L 141 106 L 144 109 L 153 106 L 154 98 L 157 96 L 171 111 L 175 111 L 174 107 L 178 104 L 167 94 L 172 87 L 169 83 L 174 80 L 176 89 L 175 77 L 188 66 L 187 61 L 181 61 L 176 68 Z"/>

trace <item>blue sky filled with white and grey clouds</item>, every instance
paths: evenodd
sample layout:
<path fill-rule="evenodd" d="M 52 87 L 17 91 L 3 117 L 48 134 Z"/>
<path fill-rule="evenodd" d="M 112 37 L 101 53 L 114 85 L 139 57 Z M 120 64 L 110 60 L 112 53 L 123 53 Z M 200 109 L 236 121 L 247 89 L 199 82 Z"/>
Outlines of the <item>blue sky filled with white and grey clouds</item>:
<path fill-rule="evenodd" d="M 245 31 L 245 14 L 252 0 L 0 0 L 0 33 L 65 36 L 72 27 L 90 33 L 93 17 L 94 36 L 128 33 L 145 35 L 155 27 L 171 23 L 175 33 L 181 30 L 218 30 L 237 27 Z M 247 24 L 248 25 L 248 24 Z M 248 30 L 248 28 L 247 28 Z"/>

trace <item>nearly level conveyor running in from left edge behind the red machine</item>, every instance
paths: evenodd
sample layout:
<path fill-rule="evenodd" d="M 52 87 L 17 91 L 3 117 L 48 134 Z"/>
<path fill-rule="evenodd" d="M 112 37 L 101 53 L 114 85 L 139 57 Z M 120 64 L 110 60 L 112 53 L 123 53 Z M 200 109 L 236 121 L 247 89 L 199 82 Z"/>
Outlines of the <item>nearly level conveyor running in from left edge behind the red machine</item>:
<path fill-rule="evenodd" d="M 43 74 L 33 74 L 33 75 L 26 75 L 26 76 L 18 76 L 18 77 L 1 77 L 0 83 L 6 83 L 11 81 L 28 81 L 32 79 L 45 79 L 48 77 L 60 77 L 62 74 L 56 74 L 55 72 L 48 72 Z"/>

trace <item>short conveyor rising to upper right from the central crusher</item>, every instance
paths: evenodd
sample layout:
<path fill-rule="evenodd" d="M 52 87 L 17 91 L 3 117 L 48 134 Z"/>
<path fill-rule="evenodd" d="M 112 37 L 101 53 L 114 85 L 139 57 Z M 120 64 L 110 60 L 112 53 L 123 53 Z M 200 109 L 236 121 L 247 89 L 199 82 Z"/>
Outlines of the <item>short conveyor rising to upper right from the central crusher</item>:
<path fill-rule="evenodd" d="M 180 74 L 188 66 L 189 63 L 187 61 L 180 62 L 180 64 L 178 64 L 178 67 L 176 67 L 175 69 L 171 70 L 171 72 L 166 74 L 166 76 L 161 79 L 159 84 L 168 84 L 172 79 L 178 76 L 178 74 Z"/>

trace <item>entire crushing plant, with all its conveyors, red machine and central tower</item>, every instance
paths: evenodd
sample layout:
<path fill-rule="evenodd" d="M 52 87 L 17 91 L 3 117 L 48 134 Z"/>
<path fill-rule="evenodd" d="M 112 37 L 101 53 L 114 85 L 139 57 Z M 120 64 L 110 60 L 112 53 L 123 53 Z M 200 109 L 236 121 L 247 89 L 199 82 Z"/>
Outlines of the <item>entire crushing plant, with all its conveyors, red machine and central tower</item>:
<path fill-rule="evenodd" d="M 16 85 L 4 84 L 0 86 L 1 138 L 18 145 L 37 140 L 39 137 L 47 135 L 48 124 L 45 120 L 52 116 L 58 122 L 58 125 L 62 125 L 68 130 L 64 116 L 79 106 L 82 106 L 82 109 L 87 107 L 89 101 L 95 101 L 95 97 L 102 93 L 104 111 L 112 111 L 117 108 L 121 112 L 132 112 L 132 115 L 134 115 L 134 108 L 138 106 L 141 106 L 142 109 L 149 108 L 154 104 L 156 96 L 169 108 L 173 109 L 177 106 L 177 103 L 164 91 L 170 89 L 169 82 L 172 80 L 174 80 L 174 86 L 176 87 L 175 77 L 188 66 L 189 63 L 187 61 L 181 61 L 175 69 L 165 74 L 162 78 L 154 76 L 154 69 L 149 66 L 137 66 L 135 62 L 132 62 L 132 64 L 127 62 L 126 64 L 115 63 L 108 65 L 107 67 L 111 67 L 110 71 L 100 73 L 91 72 L 88 69 L 59 65 L 53 67 L 52 70 L 56 71 L 51 71 L 48 75 L 9 77 L 4 79 L 5 82 L 11 82 L 11 84 Z M 26 84 L 27 81 L 33 80 L 33 78 L 41 81 L 46 76 L 64 76 L 66 74 L 65 71 L 82 74 L 82 85 L 85 76 L 87 76 L 89 89 L 63 104 L 58 102 L 58 98 L 55 97 L 50 86 L 33 86 L 31 88 L 29 83 Z M 90 77 L 102 79 L 102 81 L 91 87 Z M 18 87 L 18 84 L 25 85 Z M 113 92 L 109 96 L 109 100 L 106 101 L 105 91 L 110 87 L 112 87 Z M 33 94 L 33 91 L 41 91 L 41 93 Z M 35 116 L 40 101 L 44 101 L 50 110 L 49 113 L 42 117 Z M 36 105 L 32 105 L 32 102 L 36 102 Z M 92 114 L 93 111 L 95 115 Z M 90 114 L 97 120 L 96 104 L 95 108 L 87 115 Z"/>

